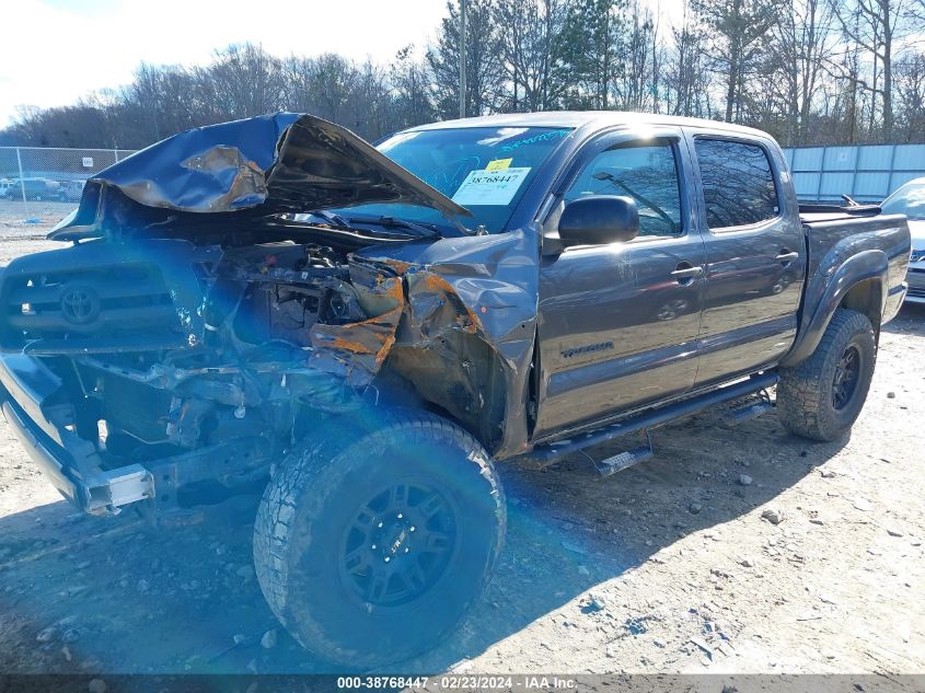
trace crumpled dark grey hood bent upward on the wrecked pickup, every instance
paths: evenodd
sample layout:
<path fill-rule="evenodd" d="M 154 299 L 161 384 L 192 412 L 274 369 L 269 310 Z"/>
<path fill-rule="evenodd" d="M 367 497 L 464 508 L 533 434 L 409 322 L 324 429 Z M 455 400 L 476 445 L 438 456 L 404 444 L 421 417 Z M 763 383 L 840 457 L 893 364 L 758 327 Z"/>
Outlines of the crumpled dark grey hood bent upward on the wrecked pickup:
<path fill-rule="evenodd" d="M 97 236 L 108 226 L 186 215 L 268 216 L 384 201 L 470 213 L 349 130 L 279 113 L 187 130 L 101 171 L 48 238 Z"/>

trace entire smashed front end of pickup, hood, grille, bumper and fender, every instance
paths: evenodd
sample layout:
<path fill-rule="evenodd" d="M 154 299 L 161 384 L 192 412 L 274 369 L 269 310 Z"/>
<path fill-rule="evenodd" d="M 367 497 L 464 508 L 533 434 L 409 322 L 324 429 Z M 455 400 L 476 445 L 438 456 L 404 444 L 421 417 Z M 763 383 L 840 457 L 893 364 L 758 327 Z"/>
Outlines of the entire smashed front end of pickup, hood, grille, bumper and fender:
<path fill-rule="evenodd" d="M 223 124 L 91 180 L 49 234 L 73 245 L 5 268 L 0 350 L 82 507 L 259 488 L 296 442 L 392 404 L 525 449 L 535 244 L 298 218 L 369 200 L 466 212 L 317 118 Z"/>

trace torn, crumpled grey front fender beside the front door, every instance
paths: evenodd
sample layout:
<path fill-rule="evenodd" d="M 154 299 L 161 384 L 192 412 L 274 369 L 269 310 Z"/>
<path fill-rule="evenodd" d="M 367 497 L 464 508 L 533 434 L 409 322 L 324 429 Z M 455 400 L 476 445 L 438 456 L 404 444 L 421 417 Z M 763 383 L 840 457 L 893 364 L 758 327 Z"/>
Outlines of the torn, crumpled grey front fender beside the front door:
<path fill-rule="evenodd" d="M 478 428 L 498 457 L 522 452 L 528 440 L 535 238 L 516 230 L 355 254 L 405 281 L 405 320 L 389 365 L 425 399 Z"/>

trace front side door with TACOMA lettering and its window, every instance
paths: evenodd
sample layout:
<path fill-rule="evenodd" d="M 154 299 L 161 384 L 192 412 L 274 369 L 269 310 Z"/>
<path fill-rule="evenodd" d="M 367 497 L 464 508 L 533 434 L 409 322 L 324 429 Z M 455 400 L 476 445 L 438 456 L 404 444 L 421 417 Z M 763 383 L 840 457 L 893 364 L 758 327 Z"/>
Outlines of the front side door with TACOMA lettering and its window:
<path fill-rule="evenodd" d="M 534 439 L 682 394 L 697 370 L 704 247 L 691 223 L 680 131 L 603 136 L 563 185 L 563 201 L 633 198 L 639 235 L 544 255 Z"/>

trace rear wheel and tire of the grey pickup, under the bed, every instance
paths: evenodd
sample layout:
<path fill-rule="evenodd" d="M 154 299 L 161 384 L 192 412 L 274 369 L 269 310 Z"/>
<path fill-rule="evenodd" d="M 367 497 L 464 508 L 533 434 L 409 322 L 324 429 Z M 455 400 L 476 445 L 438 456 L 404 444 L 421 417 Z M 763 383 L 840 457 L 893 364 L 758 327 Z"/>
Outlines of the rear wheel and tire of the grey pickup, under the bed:
<path fill-rule="evenodd" d="M 860 414 L 877 360 L 874 327 L 867 316 L 839 309 L 816 351 L 781 369 L 777 416 L 791 434 L 835 440 Z"/>

